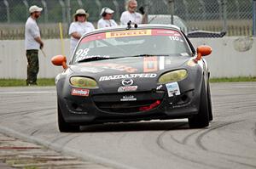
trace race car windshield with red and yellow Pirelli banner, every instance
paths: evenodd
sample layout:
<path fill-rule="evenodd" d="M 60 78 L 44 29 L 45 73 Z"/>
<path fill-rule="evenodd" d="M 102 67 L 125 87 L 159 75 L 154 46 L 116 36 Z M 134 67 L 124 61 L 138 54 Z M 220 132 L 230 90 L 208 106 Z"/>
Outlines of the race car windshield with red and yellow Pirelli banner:
<path fill-rule="evenodd" d="M 84 37 L 74 52 L 72 62 L 147 55 L 189 56 L 191 52 L 178 31 L 166 29 L 111 31 Z"/>

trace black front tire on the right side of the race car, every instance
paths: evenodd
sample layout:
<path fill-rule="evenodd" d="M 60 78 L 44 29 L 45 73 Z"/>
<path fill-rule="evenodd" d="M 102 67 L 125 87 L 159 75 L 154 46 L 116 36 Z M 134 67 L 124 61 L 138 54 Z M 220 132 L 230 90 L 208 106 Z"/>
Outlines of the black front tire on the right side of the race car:
<path fill-rule="evenodd" d="M 203 128 L 209 126 L 209 112 L 208 112 L 208 99 L 207 99 L 207 89 L 205 82 L 201 84 L 201 98 L 199 111 L 197 115 L 189 117 L 189 127 L 190 128 Z"/>

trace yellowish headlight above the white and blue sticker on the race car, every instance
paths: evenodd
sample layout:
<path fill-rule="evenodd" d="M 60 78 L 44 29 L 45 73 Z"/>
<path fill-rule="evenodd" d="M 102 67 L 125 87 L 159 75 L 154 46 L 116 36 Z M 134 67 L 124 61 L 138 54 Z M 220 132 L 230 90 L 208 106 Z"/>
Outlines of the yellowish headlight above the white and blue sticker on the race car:
<path fill-rule="evenodd" d="M 177 82 L 186 78 L 187 75 L 187 70 L 174 70 L 160 76 L 158 82 L 161 84 L 165 84 L 167 82 Z"/>

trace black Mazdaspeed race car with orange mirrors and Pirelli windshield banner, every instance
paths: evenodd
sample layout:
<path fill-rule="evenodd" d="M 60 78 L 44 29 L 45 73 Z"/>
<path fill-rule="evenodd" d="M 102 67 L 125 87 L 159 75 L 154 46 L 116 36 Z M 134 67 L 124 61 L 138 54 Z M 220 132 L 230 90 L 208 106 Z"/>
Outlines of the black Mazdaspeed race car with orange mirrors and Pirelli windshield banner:
<path fill-rule="evenodd" d="M 212 104 L 208 46 L 195 52 L 175 25 L 136 25 L 85 34 L 64 71 L 56 76 L 58 127 L 119 121 L 188 118 L 189 127 L 207 127 Z"/>

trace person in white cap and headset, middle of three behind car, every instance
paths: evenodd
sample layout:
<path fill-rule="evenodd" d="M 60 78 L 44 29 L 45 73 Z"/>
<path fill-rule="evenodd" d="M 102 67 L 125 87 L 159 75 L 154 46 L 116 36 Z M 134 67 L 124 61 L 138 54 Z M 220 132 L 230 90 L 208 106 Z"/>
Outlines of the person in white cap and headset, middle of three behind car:
<path fill-rule="evenodd" d="M 114 11 L 111 8 L 102 8 L 102 19 L 98 21 L 98 28 L 116 26 L 117 23 L 112 20 Z"/>

